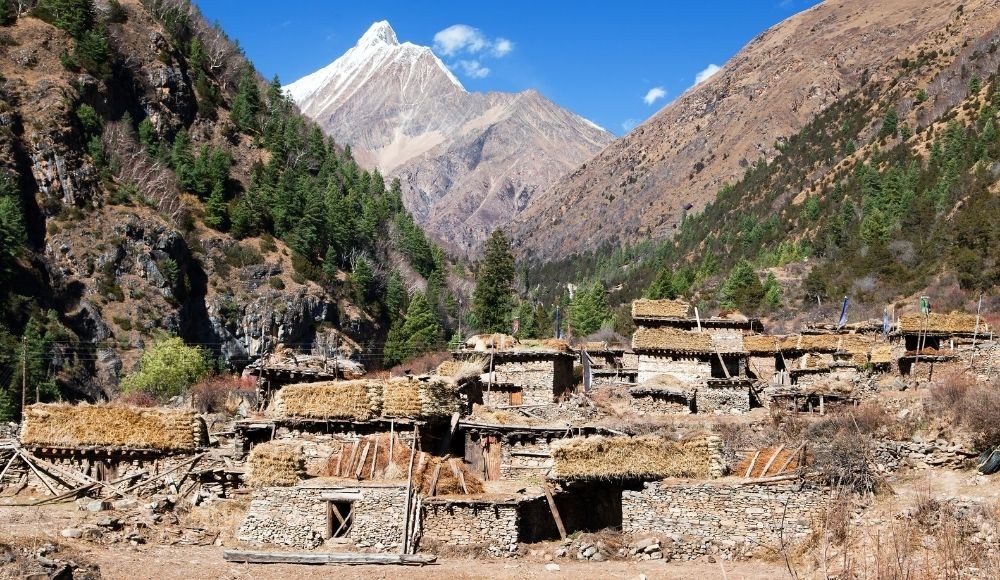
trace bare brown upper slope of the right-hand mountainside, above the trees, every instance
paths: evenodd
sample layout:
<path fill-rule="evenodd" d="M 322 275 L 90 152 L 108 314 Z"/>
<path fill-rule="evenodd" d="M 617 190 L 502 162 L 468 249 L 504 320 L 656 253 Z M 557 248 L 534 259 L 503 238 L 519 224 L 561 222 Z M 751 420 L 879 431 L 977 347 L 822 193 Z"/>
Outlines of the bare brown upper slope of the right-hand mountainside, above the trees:
<path fill-rule="evenodd" d="M 750 164 L 772 158 L 818 112 L 851 91 L 892 86 L 903 59 L 916 64 L 934 51 L 946 69 L 979 41 L 988 45 L 998 8 L 995 0 L 830 0 L 789 18 L 536 196 L 512 226 L 515 244 L 548 259 L 670 236 L 686 212 L 700 210 Z M 937 89 L 950 81 L 940 66 L 921 66 L 918 84 L 941 99 L 936 110 L 946 109 L 955 101 Z"/>

